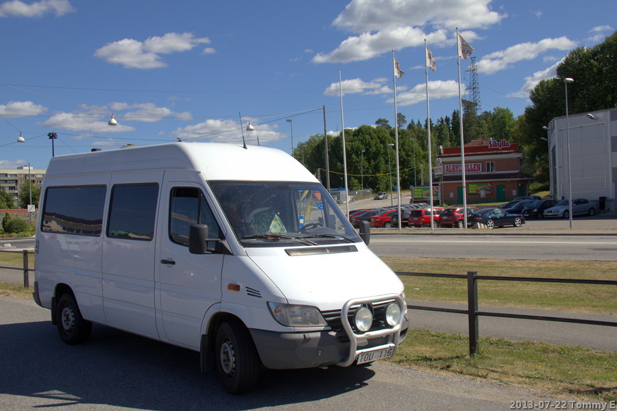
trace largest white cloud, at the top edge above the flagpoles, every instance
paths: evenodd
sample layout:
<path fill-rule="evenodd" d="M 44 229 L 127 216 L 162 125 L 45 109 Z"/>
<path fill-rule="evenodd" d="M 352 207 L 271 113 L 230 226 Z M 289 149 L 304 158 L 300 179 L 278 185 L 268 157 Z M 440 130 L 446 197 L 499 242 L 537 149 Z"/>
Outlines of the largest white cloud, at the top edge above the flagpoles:
<path fill-rule="evenodd" d="M 313 62 L 368 60 L 392 49 L 422 46 L 425 38 L 437 47 L 453 44 L 455 27 L 487 27 L 505 17 L 489 10 L 491 1 L 352 0 L 332 25 L 356 35 L 330 53 L 317 53 Z M 465 40 L 474 38 L 474 32 L 465 32 Z"/>

